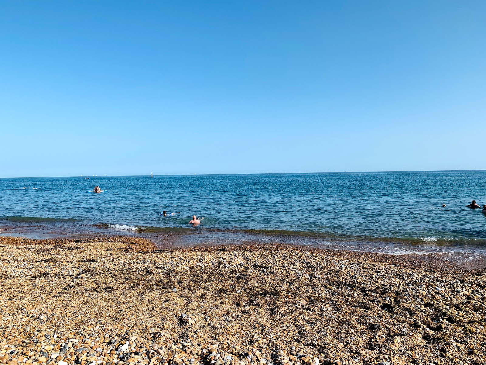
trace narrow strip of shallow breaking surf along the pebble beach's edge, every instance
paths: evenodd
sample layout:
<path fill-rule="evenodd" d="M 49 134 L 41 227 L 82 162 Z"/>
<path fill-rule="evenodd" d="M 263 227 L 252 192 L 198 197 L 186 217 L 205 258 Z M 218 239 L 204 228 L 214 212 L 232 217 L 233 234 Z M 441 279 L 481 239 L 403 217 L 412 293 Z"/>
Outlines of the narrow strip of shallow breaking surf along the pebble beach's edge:
<path fill-rule="evenodd" d="M 44 231 L 45 227 L 32 227 L 32 230 Z M 149 245 L 156 245 L 157 248 L 164 249 L 192 249 L 194 247 L 223 247 L 228 244 L 238 246 L 267 246 L 267 247 L 300 247 L 305 250 L 344 251 L 348 253 L 363 253 L 374 255 L 385 255 L 395 257 L 415 258 L 420 264 L 423 261 L 436 262 L 437 265 L 447 264 L 451 267 L 459 265 L 463 269 L 486 269 L 486 246 L 484 244 L 458 245 L 453 241 L 449 244 L 431 242 L 425 240 L 412 242 L 408 240 L 397 240 L 389 238 L 361 237 L 360 239 L 329 241 L 315 241 L 306 237 L 296 237 L 292 235 L 275 234 L 258 236 L 238 231 L 219 231 L 219 230 L 194 230 L 193 232 L 174 232 L 144 233 L 125 230 L 115 230 L 115 232 L 71 232 L 61 234 L 57 231 L 46 231 L 46 233 L 28 234 L 24 227 L 19 232 L 9 232 L 8 229 L 1 229 L 0 237 L 12 237 L 12 239 L 27 238 L 33 242 L 37 241 L 63 241 L 69 242 L 76 239 L 81 240 L 106 240 L 119 237 L 121 240 L 151 242 Z M 118 232 L 117 232 L 118 231 Z M 306 238 L 306 239 L 304 239 Z M 356 237 L 355 237 L 356 238 Z"/>

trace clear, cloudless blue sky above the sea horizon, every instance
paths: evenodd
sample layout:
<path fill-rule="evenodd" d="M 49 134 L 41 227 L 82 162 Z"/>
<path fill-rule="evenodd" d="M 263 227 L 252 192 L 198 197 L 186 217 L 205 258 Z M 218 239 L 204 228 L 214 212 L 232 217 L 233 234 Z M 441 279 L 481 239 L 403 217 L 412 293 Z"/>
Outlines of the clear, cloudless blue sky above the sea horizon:
<path fill-rule="evenodd" d="M 486 169 L 486 1 L 1 1 L 0 177 Z"/>

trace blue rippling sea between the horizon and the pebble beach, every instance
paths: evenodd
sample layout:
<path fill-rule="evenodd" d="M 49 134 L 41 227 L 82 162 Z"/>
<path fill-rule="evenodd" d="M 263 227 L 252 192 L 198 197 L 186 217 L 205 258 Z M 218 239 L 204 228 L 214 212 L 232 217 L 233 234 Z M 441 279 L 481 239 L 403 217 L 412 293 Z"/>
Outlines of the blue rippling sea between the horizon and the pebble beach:
<path fill-rule="evenodd" d="M 93 193 L 95 185 L 104 191 Z M 4 178 L 0 235 L 291 244 L 486 262 L 486 215 L 466 206 L 472 200 L 486 204 L 485 170 Z M 193 215 L 201 224 L 188 224 Z"/>

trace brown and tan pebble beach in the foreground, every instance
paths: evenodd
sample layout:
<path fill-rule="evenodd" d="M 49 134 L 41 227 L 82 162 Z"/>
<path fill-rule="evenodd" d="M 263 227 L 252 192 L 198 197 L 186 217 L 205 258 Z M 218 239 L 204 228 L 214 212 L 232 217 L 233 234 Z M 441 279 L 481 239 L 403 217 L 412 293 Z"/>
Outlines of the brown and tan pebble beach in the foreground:
<path fill-rule="evenodd" d="M 1 364 L 486 364 L 480 270 L 127 237 L 0 237 L 0 258 Z"/>

